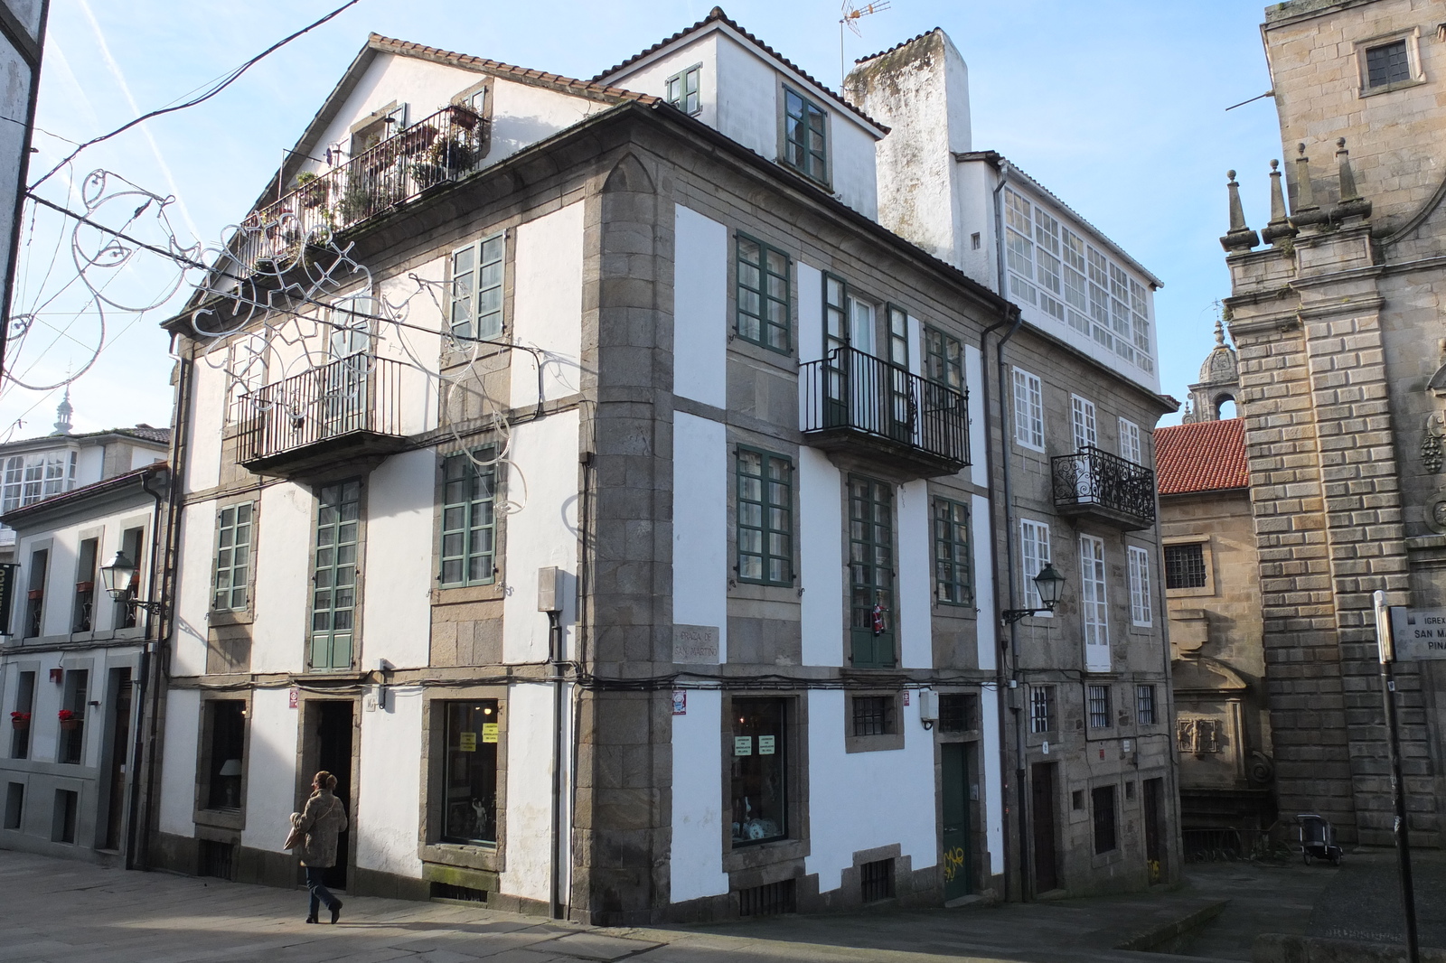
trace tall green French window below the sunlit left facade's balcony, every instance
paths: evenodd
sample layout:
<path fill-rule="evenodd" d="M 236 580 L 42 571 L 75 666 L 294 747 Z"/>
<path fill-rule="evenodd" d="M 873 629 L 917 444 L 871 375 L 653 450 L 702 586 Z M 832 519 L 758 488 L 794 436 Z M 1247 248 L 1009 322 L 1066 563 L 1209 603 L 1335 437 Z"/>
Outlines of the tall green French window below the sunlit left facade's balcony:
<path fill-rule="evenodd" d="M 324 484 L 317 493 L 317 542 L 312 565 L 311 652 L 317 671 L 351 668 L 362 548 L 362 482 Z"/>

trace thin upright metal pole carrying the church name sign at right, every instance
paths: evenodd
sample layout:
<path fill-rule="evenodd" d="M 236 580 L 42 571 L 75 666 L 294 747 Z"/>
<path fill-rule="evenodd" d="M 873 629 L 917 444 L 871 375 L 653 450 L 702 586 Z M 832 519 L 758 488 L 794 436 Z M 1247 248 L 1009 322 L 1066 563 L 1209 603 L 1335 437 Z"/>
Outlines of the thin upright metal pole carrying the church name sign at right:
<path fill-rule="evenodd" d="M 1406 784 L 1401 779 L 1401 748 L 1395 729 L 1395 678 L 1391 675 L 1391 662 L 1397 658 L 1397 641 L 1401 642 L 1401 655 L 1406 658 L 1446 658 L 1446 610 L 1413 612 L 1400 606 L 1387 609 L 1385 593 L 1381 590 L 1375 591 L 1372 602 L 1375 646 L 1381 656 L 1385 745 L 1391 756 L 1391 795 L 1395 803 L 1395 859 L 1401 872 L 1401 908 L 1406 911 L 1406 959 L 1410 963 L 1420 963 L 1421 951 L 1416 940 L 1416 888 L 1411 885 L 1411 840 L 1406 826 Z"/>

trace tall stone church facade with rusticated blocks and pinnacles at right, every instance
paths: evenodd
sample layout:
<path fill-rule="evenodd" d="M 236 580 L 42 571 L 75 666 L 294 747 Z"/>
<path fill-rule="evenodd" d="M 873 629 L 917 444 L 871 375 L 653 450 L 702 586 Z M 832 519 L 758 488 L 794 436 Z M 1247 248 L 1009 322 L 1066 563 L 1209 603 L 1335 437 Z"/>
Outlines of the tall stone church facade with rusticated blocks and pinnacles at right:
<path fill-rule="evenodd" d="M 1348 843 L 1391 842 L 1371 593 L 1446 604 L 1440 20 L 1421 0 L 1268 7 L 1288 159 L 1258 236 L 1231 174 L 1222 237 L 1280 811 Z M 1446 671 L 1403 662 L 1397 687 L 1413 839 L 1440 844 Z"/>

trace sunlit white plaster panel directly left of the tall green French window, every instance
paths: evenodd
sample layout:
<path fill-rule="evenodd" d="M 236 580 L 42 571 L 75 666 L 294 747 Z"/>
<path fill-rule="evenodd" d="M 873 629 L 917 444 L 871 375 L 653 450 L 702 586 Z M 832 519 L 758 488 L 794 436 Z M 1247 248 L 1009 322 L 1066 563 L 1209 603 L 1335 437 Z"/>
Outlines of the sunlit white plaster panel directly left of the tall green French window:
<path fill-rule="evenodd" d="M 307 665 L 307 635 L 311 625 L 311 492 L 291 482 L 262 492 L 254 528 L 259 541 L 254 548 L 253 672 L 301 672 Z"/>

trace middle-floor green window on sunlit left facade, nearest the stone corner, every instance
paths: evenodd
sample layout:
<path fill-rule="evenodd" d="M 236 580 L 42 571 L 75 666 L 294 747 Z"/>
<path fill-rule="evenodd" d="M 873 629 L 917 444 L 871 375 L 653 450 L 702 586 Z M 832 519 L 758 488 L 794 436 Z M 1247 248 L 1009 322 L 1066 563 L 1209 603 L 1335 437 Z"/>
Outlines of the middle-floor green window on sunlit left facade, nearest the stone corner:
<path fill-rule="evenodd" d="M 496 581 L 497 466 L 477 464 L 492 448 L 442 458 L 442 539 L 437 581 L 444 587 Z"/>

